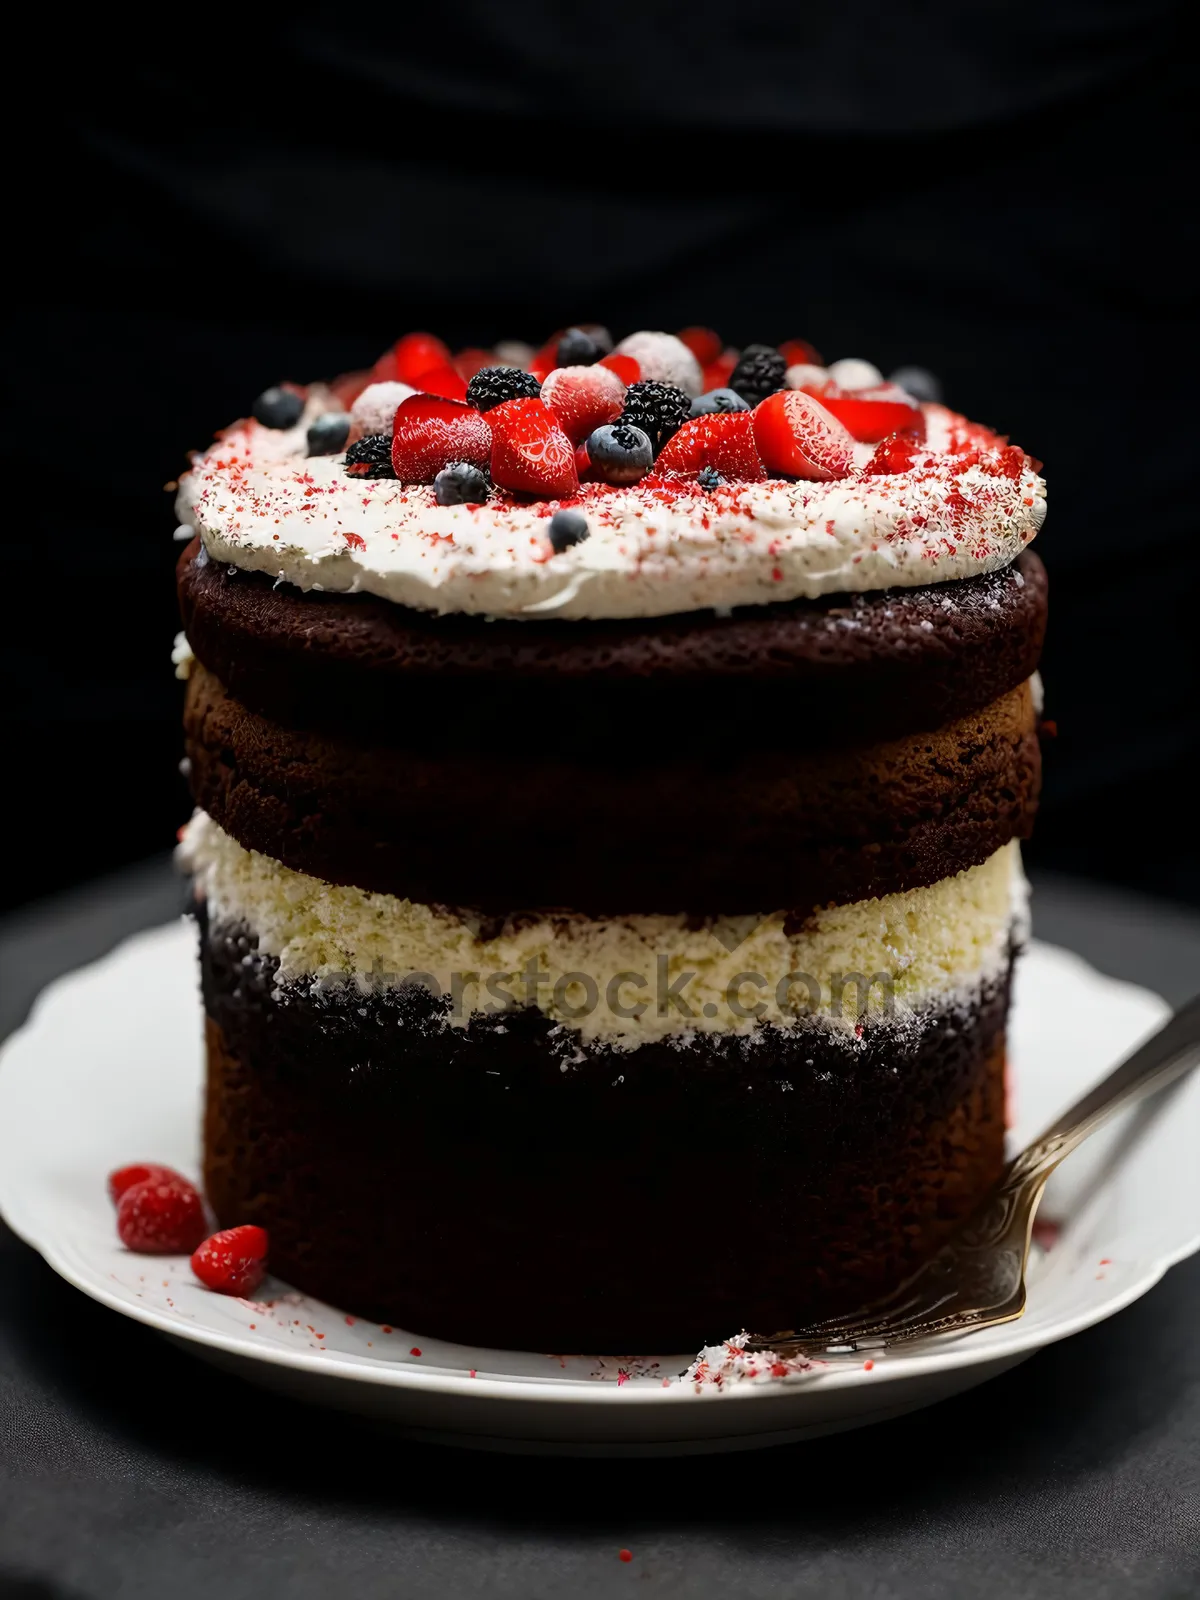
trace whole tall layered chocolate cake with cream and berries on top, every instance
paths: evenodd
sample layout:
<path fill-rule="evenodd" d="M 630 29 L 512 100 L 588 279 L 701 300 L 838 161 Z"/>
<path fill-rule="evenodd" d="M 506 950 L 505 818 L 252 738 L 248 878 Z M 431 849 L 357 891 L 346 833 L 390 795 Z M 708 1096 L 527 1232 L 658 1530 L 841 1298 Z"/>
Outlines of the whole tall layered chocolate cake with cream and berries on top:
<path fill-rule="evenodd" d="M 414 334 L 194 459 L 205 1184 L 282 1278 L 694 1349 L 995 1181 L 1045 485 L 898 378 Z"/>

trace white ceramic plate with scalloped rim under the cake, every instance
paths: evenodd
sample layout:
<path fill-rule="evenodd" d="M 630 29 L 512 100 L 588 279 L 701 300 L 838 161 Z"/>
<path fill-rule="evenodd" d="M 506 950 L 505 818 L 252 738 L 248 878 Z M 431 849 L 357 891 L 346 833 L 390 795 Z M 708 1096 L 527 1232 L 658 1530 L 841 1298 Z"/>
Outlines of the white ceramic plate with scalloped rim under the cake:
<path fill-rule="evenodd" d="M 677 1382 L 694 1352 L 616 1358 L 470 1349 L 354 1320 L 283 1285 L 203 1290 L 186 1259 L 117 1243 L 106 1173 L 195 1173 L 194 930 L 157 928 L 53 984 L 0 1058 L 0 1210 L 70 1283 L 243 1378 L 408 1434 L 574 1454 L 746 1450 L 896 1416 L 970 1389 L 1112 1315 L 1200 1248 L 1200 1074 L 1083 1146 L 1043 1203 L 1062 1232 L 1024 1318 L 864 1368 L 731 1387 Z M 1030 1138 L 1166 1014 L 1155 995 L 1035 944 L 1013 1022 L 1014 1138 Z M 267 1304 L 267 1299 L 272 1304 Z M 730 1330 L 734 1333 L 734 1330 Z"/>

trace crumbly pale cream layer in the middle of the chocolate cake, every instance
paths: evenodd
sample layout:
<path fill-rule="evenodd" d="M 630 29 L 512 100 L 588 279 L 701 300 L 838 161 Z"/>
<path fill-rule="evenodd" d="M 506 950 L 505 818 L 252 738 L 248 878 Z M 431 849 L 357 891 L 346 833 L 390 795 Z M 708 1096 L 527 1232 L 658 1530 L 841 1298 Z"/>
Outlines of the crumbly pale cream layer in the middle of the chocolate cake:
<path fill-rule="evenodd" d="M 618 1048 L 696 1032 L 749 1035 L 760 1022 L 816 1022 L 851 1038 L 859 1014 L 902 1024 L 995 978 L 1026 904 L 1011 843 L 928 888 L 816 910 L 798 930 L 782 912 L 701 926 L 682 915 L 563 914 L 485 934 L 440 907 L 293 872 L 245 850 L 203 811 L 184 830 L 181 856 L 213 926 L 245 926 L 277 958 L 282 982 L 354 981 L 371 992 L 419 973 L 453 998 L 454 1026 L 504 1010 L 509 995 L 582 1042 Z M 853 978 L 842 987 L 838 974 L 875 982 L 864 994 Z M 678 1002 L 661 998 L 669 994 Z"/>

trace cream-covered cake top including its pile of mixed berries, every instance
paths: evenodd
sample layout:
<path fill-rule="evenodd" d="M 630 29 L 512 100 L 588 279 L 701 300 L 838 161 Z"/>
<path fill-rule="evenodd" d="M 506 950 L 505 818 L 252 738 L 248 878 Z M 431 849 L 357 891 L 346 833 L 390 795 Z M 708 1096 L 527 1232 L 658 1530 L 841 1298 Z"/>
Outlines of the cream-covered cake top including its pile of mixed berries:
<path fill-rule="evenodd" d="M 194 459 L 181 520 L 301 589 L 531 622 L 970 578 L 1042 525 L 1038 462 L 920 398 L 928 374 L 706 330 L 605 342 L 454 366 L 410 334 L 373 373 L 267 390 Z"/>

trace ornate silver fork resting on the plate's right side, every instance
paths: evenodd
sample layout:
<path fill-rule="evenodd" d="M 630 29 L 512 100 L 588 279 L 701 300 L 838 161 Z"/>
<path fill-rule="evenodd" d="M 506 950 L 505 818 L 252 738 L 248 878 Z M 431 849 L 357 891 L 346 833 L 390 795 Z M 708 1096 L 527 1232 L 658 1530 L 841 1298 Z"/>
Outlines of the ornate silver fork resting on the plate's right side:
<path fill-rule="evenodd" d="M 898 1290 L 850 1315 L 754 1334 L 746 1349 L 829 1360 L 1013 1322 L 1026 1309 L 1029 1240 L 1050 1174 L 1109 1117 L 1166 1088 L 1197 1061 L 1200 995 L 1026 1146 L 987 1200 Z"/>

